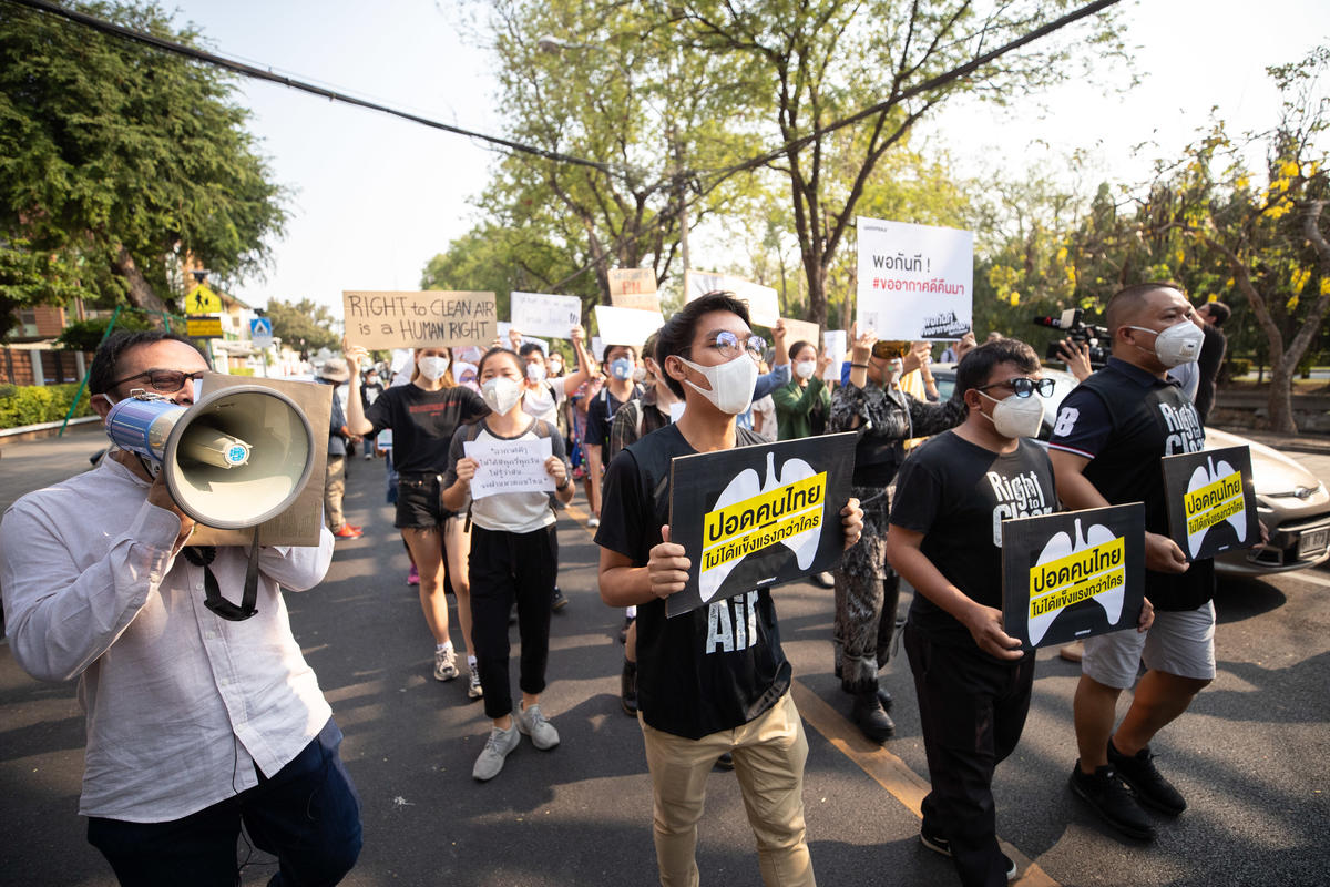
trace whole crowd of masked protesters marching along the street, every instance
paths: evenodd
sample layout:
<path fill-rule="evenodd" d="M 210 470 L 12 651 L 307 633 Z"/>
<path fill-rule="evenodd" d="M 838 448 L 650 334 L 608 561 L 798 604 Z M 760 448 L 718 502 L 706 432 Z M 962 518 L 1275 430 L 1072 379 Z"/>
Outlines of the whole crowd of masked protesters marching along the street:
<path fill-rule="evenodd" d="M 1033 653 L 1003 630 L 995 515 L 999 507 L 1005 516 L 1029 516 L 1145 501 L 1146 604 L 1136 630 L 1084 645 L 1075 699 L 1080 759 L 1069 786 L 1116 830 L 1152 838 L 1154 824 L 1142 805 L 1177 815 L 1186 802 L 1153 765 L 1150 739 L 1181 717 L 1214 677 L 1212 564 L 1188 561 L 1168 539 L 1156 479 L 1158 460 L 1172 445 L 1164 442 L 1169 428 L 1157 407 L 1192 419 L 1181 423 L 1188 430 L 1182 449 L 1204 444 L 1204 410 L 1198 412 L 1193 399 L 1200 403 L 1213 392 L 1218 363 L 1213 348 L 1222 354 L 1222 334 L 1213 327 L 1222 322 L 1224 306 L 1202 307 L 1193 311 L 1169 283 L 1145 283 L 1115 295 L 1105 318 L 1112 331 L 1108 366 L 1092 372 L 1084 352 L 1065 343 L 1068 367 L 1083 384 L 1064 402 L 1048 447 L 1031 439 L 1044 431 L 1043 398 L 1052 383 L 1023 342 L 996 336 L 976 346 L 967 334 L 948 346 L 944 356 L 956 362 L 955 384 L 940 399 L 928 343 L 886 342 L 872 330 L 854 328 L 850 352 L 835 367 L 831 354 L 814 342 L 786 347 L 779 323 L 773 328 L 774 347 L 767 348 L 751 328 L 746 303 L 728 293 L 689 302 L 645 343 L 606 343 L 598 359 L 588 351 L 581 327 L 569 330 L 572 359 L 567 363 L 563 354 L 525 340 L 517 330 L 484 352 L 427 347 L 398 355 L 391 364 L 372 363 L 364 348 L 347 346 L 343 358 L 325 362 L 317 372 L 321 382 L 347 386 L 344 408 L 343 399 L 334 398 L 323 544 L 299 567 L 286 561 L 305 557 L 298 552 L 306 549 L 263 549 L 270 553 L 261 557 L 265 588 L 277 601 L 270 609 L 281 616 L 271 629 L 281 648 L 275 656 L 282 668 L 307 672 L 299 650 L 287 649 L 290 629 L 282 628 L 277 584 L 317 584 L 327 569 L 332 540 L 363 533 L 362 527 L 346 523 L 340 503 L 348 443 L 359 445 L 366 459 L 386 456 L 394 524 L 410 557 L 408 582 L 418 585 L 435 642 L 431 673 L 439 681 L 466 674 L 467 696 L 483 699 L 492 721 L 475 762 L 475 779 L 499 775 L 521 735 L 537 749 L 556 747 L 559 731 L 540 707 L 547 672 L 559 672 L 549 656 L 551 613 L 567 605 L 557 585 L 556 512 L 568 505 L 581 481 L 587 525 L 600 547 L 600 596 L 624 613 L 621 707 L 641 722 L 661 883 L 698 882 L 694 855 L 706 778 L 720 765 L 738 779 L 763 882 L 813 884 L 802 807 L 807 742 L 790 696 L 791 670 L 781 646 L 775 600 L 763 586 L 666 617 L 665 602 L 684 588 L 690 564 L 689 552 L 672 541 L 668 527 L 670 464 L 692 453 L 849 432 L 855 435 L 851 495 L 835 503 L 846 549 L 826 578 L 834 589 L 830 665 L 849 697 L 851 721 L 870 739 L 888 741 L 895 731 L 892 697 L 880 685 L 879 672 L 903 625 L 932 782 L 923 801 L 920 839 L 951 856 L 967 886 L 994 887 L 1016 875 L 996 840 L 991 783 L 994 769 L 1020 738 L 1035 672 Z M 1202 343 L 1210 348 L 1210 362 Z M 193 400 L 190 374 L 197 354 L 189 354 L 188 340 L 164 335 L 108 344 L 93 368 L 98 412 L 125 396 L 130 379 L 146 379 L 178 403 Z M 1188 379 L 1196 380 L 1190 390 Z M 472 499 L 472 484 L 488 459 L 483 453 L 513 442 L 548 448 L 541 469 L 549 487 Z M 112 467 L 102 471 L 106 476 L 96 481 L 106 487 L 105 493 L 89 487 L 86 495 L 134 491 L 132 501 L 117 505 L 134 512 L 120 519 L 118 525 L 130 527 L 124 549 L 100 540 L 93 551 L 89 540 L 60 532 L 59 523 L 52 529 L 45 512 L 61 505 L 47 491 L 20 500 L 0 529 L 5 548 L 0 580 L 16 658 L 39 677 L 82 676 L 93 689 L 93 702 L 98 685 L 104 694 L 136 693 L 133 660 L 112 669 L 105 653 L 121 644 L 146 644 L 136 638 L 136 632 L 148 630 L 141 625 L 142 610 L 161 609 L 150 592 L 165 594 L 168 577 L 186 586 L 200 570 L 215 582 L 209 564 L 217 551 L 227 551 L 192 553 L 176 564 L 188 539 L 188 517 L 141 459 L 120 456 L 125 453 L 110 460 Z M 1039 495 L 1023 499 L 1013 513 L 1000 491 L 1017 480 Z M 125 499 L 124 491 L 117 495 Z M 15 544 L 20 531 L 49 536 L 48 544 L 35 548 L 40 564 L 20 556 L 21 547 Z M 116 576 L 130 569 L 126 557 L 140 545 L 152 552 L 156 569 L 150 574 L 134 570 L 133 593 L 128 593 L 117 586 Z M 53 552 L 64 552 L 64 560 Z M 237 570 L 245 572 L 243 560 L 241 555 L 230 557 L 234 564 L 219 559 L 217 569 L 225 569 L 234 585 Z M 902 577 L 914 589 L 906 620 L 898 618 Z M 33 585 L 39 581 L 40 589 Z M 456 598 L 466 672 L 458 662 L 446 589 Z M 97 594 L 113 596 L 114 606 L 98 604 L 105 613 L 92 612 Z M 77 613 L 96 617 L 86 632 Z M 186 614 L 173 616 L 168 608 L 153 618 Z M 198 610 L 188 618 L 200 618 Z M 513 621 L 521 640 L 516 705 L 509 676 Z M 737 633 L 734 644 L 718 646 L 712 642 L 718 621 L 750 628 Z M 106 630 L 114 625 L 125 632 L 124 638 Z M 92 640 L 76 642 L 81 634 Z M 59 662 L 47 650 L 56 640 L 69 650 Z M 206 645 L 198 656 L 210 656 Z M 1137 682 L 1142 661 L 1145 673 Z M 1117 722 L 1117 697 L 1133 685 L 1132 705 Z M 188 692 L 225 699 L 221 688 L 209 677 Z M 325 759 L 335 761 L 340 734 L 317 686 L 295 696 L 286 707 L 311 711 L 301 717 L 313 726 L 289 737 L 281 759 L 263 757 L 267 746 L 257 743 L 253 769 L 261 775 L 285 773 L 283 767 L 319 749 Z M 113 709 L 116 703 L 106 705 Z M 230 731 L 222 722 L 214 726 L 219 735 Z M 93 761 L 96 734 L 89 737 Z M 241 741 L 249 747 L 245 737 Z M 302 751 L 305 743 L 310 746 Z M 161 738 L 160 745 L 165 747 L 169 739 Z M 230 739 L 225 745 L 229 762 Z M 164 759 L 169 758 L 166 749 Z M 336 773 L 342 773 L 339 762 Z M 358 848 L 359 826 L 347 814 L 358 802 L 344 774 L 338 778 L 339 811 L 330 822 Z M 89 839 L 117 875 L 125 883 L 157 883 L 152 878 L 169 880 L 192 871 L 184 863 L 173 868 L 170 855 L 152 858 L 160 840 L 146 843 L 144 830 L 129 824 L 189 819 L 213 810 L 222 798 L 196 793 L 189 809 L 165 802 L 125 806 L 122 799 L 112 801 L 124 786 L 108 782 L 114 778 L 89 770 L 85 813 L 97 823 Z M 263 806 L 263 789 L 261 781 L 242 797 Z M 274 826 L 273 832 L 279 831 Z M 117 846 L 129 838 L 144 840 L 142 859 Z M 354 851 L 346 852 L 350 843 L 340 855 L 318 844 L 314 851 L 309 846 L 297 851 L 281 838 L 270 843 L 283 860 L 283 874 L 289 859 L 322 854 L 326 871 L 317 883 L 335 883 L 336 872 L 355 859 Z M 149 870 L 152 876 L 136 874 Z M 315 883 L 294 870 L 289 880 Z"/>

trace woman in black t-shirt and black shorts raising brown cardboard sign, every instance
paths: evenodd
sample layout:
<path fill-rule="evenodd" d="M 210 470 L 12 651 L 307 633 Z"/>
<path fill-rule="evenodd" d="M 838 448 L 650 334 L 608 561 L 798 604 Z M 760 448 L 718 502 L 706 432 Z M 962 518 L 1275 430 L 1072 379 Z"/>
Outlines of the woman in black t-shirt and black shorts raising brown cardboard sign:
<path fill-rule="evenodd" d="M 448 600 L 444 596 L 444 556 L 448 581 L 458 596 L 458 621 L 467 649 L 471 680 L 467 696 L 483 694 L 480 673 L 471 644 L 471 586 L 467 577 L 467 551 L 471 548 L 464 521 L 443 508 L 443 472 L 448 468 L 448 445 L 459 426 L 480 419 L 489 408 L 479 394 L 454 382 L 448 348 L 418 348 L 411 383 L 384 391 L 368 410 L 360 406 L 359 364 L 368 352 L 346 347 L 351 370 L 347 428 L 371 435 L 392 430 L 392 459 L 398 469 L 398 513 L 394 525 L 402 531 L 411 560 L 420 573 L 420 608 L 434 634 L 434 677 L 458 677 L 458 657 L 448 630 Z"/>

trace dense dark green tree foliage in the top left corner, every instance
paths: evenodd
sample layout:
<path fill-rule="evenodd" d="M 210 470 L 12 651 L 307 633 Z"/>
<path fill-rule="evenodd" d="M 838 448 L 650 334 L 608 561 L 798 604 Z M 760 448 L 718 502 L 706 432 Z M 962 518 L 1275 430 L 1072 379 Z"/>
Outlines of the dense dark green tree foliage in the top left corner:
<path fill-rule="evenodd" d="M 194 44 L 156 5 L 77 4 Z M 15 311 L 89 301 L 161 311 L 190 257 L 215 278 L 266 262 L 281 231 L 247 112 L 215 68 L 52 15 L 0 16 L 0 332 Z"/>

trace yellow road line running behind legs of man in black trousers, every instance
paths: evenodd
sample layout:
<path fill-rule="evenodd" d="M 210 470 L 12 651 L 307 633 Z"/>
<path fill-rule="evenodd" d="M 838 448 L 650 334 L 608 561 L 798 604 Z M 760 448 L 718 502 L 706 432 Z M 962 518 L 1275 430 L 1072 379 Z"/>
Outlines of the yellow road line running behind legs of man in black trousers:
<path fill-rule="evenodd" d="M 794 703 L 799 707 L 799 714 L 803 715 L 803 719 L 807 721 L 809 726 L 821 733 L 831 743 L 831 747 L 859 765 L 861 770 L 886 789 L 906 810 L 920 819 L 923 818 L 919 805 L 930 790 L 927 779 L 911 770 L 904 761 L 880 745 L 864 738 L 858 727 L 799 681 L 790 682 L 790 693 L 794 694 Z M 1017 880 L 1012 882 L 1013 884 L 1020 884 L 1021 887 L 1059 887 L 1056 880 L 1049 878 L 1043 868 L 1023 852 L 1005 840 L 999 839 L 998 843 L 1001 846 L 1003 852 L 1016 860 L 1023 872 Z"/>

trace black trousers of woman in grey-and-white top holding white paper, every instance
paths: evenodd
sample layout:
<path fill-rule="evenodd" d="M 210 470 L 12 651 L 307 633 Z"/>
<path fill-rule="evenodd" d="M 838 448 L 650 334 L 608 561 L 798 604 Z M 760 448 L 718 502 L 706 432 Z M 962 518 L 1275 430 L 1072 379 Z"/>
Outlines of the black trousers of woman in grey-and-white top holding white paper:
<path fill-rule="evenodd" d="M 471 642 L 475 645 L 485 715 L 512 713 L 508 680 L 508 613 L 517 602 L 521 666 L 517 686 L 524 693 L 545 689 L 549 661 L 549 601 L 559 574 L 555 525 L 529 533 L 471 527 Z"/>

